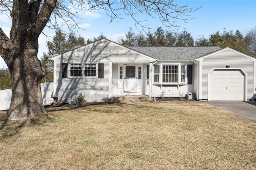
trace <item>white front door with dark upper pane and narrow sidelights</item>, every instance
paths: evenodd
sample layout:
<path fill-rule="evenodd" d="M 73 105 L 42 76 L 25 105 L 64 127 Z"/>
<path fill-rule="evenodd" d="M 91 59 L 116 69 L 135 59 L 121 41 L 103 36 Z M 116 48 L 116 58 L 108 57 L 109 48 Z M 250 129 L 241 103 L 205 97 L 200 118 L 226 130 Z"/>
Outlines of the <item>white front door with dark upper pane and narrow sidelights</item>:
<path fill-rule="evenodd" d="M 119 94 L 142 93 L 142 66 L 124 64 L 119 67 Z"/>

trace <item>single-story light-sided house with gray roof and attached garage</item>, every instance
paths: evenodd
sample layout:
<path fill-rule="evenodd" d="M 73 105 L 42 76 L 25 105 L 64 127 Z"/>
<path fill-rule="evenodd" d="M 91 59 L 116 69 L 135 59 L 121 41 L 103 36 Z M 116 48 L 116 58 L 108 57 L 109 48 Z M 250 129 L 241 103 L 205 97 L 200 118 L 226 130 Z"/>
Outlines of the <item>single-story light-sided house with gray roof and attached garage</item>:
<path fill-rule="evenodd" d="M 87 101 L 115 95 L 186 97 L 196 100 L 252 98 L 256 58 L 229 47 L 125 47 L 101 39 L 54 60 L 54 96 Z"/>

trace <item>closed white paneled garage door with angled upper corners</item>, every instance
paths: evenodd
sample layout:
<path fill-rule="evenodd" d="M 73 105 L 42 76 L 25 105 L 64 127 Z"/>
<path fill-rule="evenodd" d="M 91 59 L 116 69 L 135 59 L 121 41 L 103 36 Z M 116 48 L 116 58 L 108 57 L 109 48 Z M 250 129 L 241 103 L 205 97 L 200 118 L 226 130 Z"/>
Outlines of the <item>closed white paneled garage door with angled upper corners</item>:
<path fill-rule="evenodd" d="M 244 100 L 244 75 L 239 70 L 214 70 L 209 83 L 210 100 Z"/>

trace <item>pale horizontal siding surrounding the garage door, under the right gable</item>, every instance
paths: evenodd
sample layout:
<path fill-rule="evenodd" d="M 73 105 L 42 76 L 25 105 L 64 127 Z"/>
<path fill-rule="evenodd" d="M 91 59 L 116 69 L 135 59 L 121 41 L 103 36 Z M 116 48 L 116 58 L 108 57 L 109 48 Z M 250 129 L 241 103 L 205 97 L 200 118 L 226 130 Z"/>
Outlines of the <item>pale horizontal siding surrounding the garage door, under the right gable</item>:
<path fill-rule="evenodd" d="M 251 58 L 245 57 L 234 51 L 225 50 L 214 55 L 205 57 L 202 61 L 202 99 L 208 99 L 208 73 L 214 68 L 225 68 L 225 65 L 230 65 L 232 68 L 242 68 L 247 74 L 247 89 L 254 89 L 253 84 L 253 61 Z M 250 99 L 253 91 L 247 91 L 247 99 Z"/>

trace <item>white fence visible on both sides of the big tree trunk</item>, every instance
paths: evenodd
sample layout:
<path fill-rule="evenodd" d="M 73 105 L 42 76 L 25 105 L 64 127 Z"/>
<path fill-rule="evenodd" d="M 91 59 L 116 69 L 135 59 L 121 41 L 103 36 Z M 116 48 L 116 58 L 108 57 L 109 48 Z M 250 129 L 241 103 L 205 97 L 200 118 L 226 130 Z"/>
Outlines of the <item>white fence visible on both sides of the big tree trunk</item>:
<path fill-rule="evenodd" d="M 41 92 L 44 105 L 53 102 L 53 83 L 45 82 L 41 83 Z M 6 89 L 0 91 L 0 111 L 7 110 L 10 107 L 12 99 L 12 89 Z"/>

